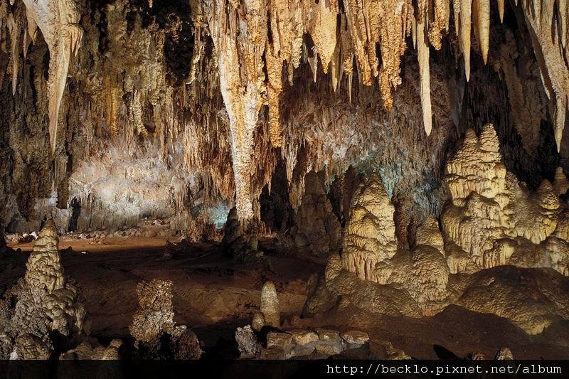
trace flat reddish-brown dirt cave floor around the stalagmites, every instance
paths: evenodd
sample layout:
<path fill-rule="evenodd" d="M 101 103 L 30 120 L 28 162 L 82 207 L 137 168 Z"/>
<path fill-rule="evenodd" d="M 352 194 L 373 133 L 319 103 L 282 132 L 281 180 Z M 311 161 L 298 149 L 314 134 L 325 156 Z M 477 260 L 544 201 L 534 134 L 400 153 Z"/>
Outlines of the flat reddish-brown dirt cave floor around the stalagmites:
<path fill-rule="evenodd" d="M 32 247 L 33 243 L 13 246 L 20 248 L 22 255 Z M 73 251 L 66 250 L 68 247 Z M 515 358 L 569 358 L 569 321 L 553 324 L 538 336 L 528 336 L 506 319 L 459 306 L 448 306 L 440 314 L 423 319 L 378 316 L 372 329 L 341 325 L 324 316 L 299 319 L 307 297 L 307 280 L 324 269 L 326 260 L 271 253 L 275 251 L 272 240 L 260 240 L 260 247 L 272 269 L 235 263 L 216 243 L 191 244 L 166 259 L 166 239 L 108 238 L 95 245 L 88 240 L 60 240 L 65 274 L 78 282 L 90 314 L 91 335 L 102 343 L 128 338 L 128 326 L 137 309 L 138 282 L 170 279 L 174 282 L 176 323 L 196 331 L 211 358 L 229 358 L 237 353 L 235 328 L 250 324 L 260 306 L 262 283 L 272 280 L 286 329 L 363 329 L 372 341 L 390 341 L 395 348 L 422 359 L 464 357 L 470 352 L 493 358 L 504 346 L 511 348 Z M 20 263 L 0 272 L 0 288 L 24 272 Z"/>

